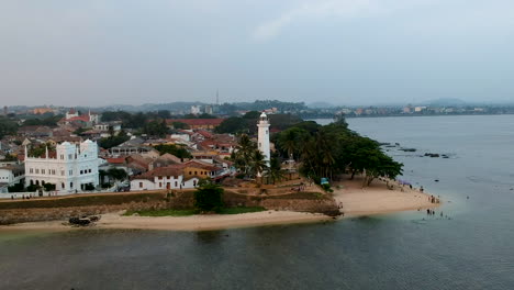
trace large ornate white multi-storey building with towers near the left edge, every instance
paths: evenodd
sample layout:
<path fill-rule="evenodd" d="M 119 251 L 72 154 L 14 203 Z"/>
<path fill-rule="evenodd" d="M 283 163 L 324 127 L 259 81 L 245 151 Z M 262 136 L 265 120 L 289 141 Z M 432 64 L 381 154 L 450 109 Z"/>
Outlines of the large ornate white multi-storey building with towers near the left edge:
<path fill-rule="evenodd" d="M 53 183 L 59 191 L 81 190 L 86 185 L 96 187 L 99 164 L 96 142 L 87 140 L 80 145 L 64 142 L 56 146 L 55 156 L 51 157 L 46 149 L 45 157 L 25 158 L 25 186 Z"/>

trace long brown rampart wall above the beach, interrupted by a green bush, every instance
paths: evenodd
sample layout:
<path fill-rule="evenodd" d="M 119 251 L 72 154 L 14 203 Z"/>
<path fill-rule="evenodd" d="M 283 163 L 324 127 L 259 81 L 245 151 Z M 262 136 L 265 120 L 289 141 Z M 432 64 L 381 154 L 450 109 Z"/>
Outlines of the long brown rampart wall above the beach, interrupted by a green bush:
<path fill-rule="evenodd" d="M 147 197 L 144 197 L 144 194 L 147 194 Z M 96 194 L 94 197 L 59 198 L 58 201 L 36 199 L 0 202 L 0 225 L 56 220 L 69 221 L 71 217 L 100 215 L 123 210 L 191 209 L 194 205 L 193 197 L 193 191 L 182 191 L 169 194 L 166 192 L 108 193 Z M 340 214 L 334 199 L 319 192 L 250 196 L 225 190 L 223 200 L 226 207 L 264 207 L 268 210 L 313 212 L 329 216 Z"/>

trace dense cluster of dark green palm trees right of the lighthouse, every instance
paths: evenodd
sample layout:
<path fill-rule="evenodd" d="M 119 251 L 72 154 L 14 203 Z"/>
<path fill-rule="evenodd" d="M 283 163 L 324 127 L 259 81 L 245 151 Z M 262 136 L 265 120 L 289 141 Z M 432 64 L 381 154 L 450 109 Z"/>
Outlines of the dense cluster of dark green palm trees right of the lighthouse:
<path fill-rule="evenodd" d="M 300 171 L 315 182 L 349 172 L 351 179 L 364 175 L 362 186 L 369 186 L 376 178 L 402 174 L 402 164 L 384 154 L 378 142 L 350 131 L 344 119 L 324 126 L 301 122 L 272 137 L 279 154 L 292 155 Z"/>

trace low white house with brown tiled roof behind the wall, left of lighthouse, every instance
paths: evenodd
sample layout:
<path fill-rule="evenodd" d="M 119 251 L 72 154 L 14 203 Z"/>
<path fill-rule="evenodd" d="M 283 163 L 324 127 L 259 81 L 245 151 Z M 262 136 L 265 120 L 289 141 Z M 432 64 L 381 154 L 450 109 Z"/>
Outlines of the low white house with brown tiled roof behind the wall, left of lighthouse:
<path fill-rule="evenodd" d="M 195 188 L 199 180 L 198 177 L 185 179 L 178 168 L 159 167 L 134 177 L 131 181 L 131 191 Z"/>

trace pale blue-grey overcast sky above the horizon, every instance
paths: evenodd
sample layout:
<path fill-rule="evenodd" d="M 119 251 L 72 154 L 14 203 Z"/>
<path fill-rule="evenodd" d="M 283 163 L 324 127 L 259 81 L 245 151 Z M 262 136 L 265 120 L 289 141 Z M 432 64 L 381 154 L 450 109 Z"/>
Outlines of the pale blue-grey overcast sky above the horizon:
<path fill-rule="evenodd" d="M 1 0 L 0 105 L 514 101 L 513 0 Z"/>

